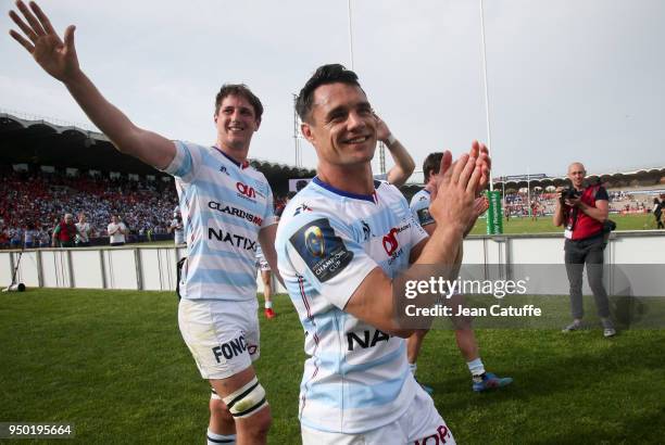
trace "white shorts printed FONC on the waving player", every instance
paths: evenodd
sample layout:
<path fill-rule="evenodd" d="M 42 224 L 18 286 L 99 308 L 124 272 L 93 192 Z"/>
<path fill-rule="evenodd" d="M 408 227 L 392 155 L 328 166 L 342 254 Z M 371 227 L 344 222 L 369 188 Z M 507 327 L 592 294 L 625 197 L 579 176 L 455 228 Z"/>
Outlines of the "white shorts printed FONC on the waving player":
<path fill-rule="evenodd" d="M 203 379 L 226 379 L 259 358 L 256 300 L 180 300 L 178 325 Z"/>

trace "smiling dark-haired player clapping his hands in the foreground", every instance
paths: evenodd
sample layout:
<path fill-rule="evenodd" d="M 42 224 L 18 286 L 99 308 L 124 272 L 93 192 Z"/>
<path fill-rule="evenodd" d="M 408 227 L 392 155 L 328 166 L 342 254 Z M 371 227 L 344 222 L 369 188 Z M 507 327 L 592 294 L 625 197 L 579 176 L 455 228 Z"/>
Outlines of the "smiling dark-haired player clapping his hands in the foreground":
<path fill-rule="evenodd" d="M 289 202 L 277 230 L 279 270 L 305 330 L 299 418 L 304 444 L 454 443 L 416 383 L 404 329 L 393 318 L 393 279 L 410 264 L 461 262 L 464 230 L 489 174 L 487 149 L 442 161 L 431 237 L 406 200 L 375 181 L 377 120 L 357 76 L 319 67 L 300 91 L 303 136 L 317 176 Z M 451 165 L 452 164 L 452 165 Z"/>

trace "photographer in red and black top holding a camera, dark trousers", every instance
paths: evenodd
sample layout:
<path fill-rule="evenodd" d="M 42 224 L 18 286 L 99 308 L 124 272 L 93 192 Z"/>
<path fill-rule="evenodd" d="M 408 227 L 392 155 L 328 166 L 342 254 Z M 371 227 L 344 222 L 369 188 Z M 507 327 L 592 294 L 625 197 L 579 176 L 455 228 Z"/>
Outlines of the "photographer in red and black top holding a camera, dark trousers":
<path fill-rule="evenodd" d="M 603 323 L 604 336 L 616 331 L 610 320 L 610 302 L 603 287 L 603 252 L 605 226 L 610 209 L 607 191 L 600 185 L 584 186 L 587 171 L 580 163 L 568 166 L 572 188 L 559 188 L 554 211 L 554 225 L 565 225 L 565 263 L 570 282 L 570 309 L 573 322 L 563 329 L 570 332 L 581 328 L 584 317 L 582 272 L 587 264 L 587 278 L 595 298 L 598 315 Z"/>

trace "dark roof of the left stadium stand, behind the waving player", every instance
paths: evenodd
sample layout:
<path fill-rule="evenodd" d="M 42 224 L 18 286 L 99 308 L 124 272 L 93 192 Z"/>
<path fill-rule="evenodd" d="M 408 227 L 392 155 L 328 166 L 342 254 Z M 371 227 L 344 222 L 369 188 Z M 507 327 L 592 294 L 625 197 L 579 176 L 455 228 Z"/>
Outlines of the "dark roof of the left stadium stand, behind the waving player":
<path fill-rule="evenodd" d="M 165 175 L 131 156 L 121 154 L 101 132 L 42 119 L 25 119 L 9 113 L 0 113 L 0 163 Z M 316 174 L 312 169 L 261 160 L 250 160 L 250 163 L 272 185 L 289 178 L 311 178 Z"/>

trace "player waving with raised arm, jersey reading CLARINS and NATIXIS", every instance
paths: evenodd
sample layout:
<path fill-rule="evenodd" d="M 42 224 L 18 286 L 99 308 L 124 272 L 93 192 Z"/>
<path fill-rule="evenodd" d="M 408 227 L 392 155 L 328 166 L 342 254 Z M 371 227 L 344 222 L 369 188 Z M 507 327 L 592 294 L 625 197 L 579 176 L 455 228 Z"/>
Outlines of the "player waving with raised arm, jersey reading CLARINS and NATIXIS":
<path fill-rule="evenodd" d="M 23 18 L 10 16 L 24 35 L 10 35 L 65 85 L 120 152 L 175 177 L 188 253 L 178 322 L 213 387 L 208 442 L 265 443 L 271 411 L 252 367 L 259 357 L 254 251 L 260 243 L 277 270 L 276 226 L 267 180 L 247 161 L 261 101 L 244 85 L 225 85 L 215 99 L 216 143 L 171 141 L 137 127 L 104 99 L 79 67 L 74 26 L 61 39 L 36 3 L 16 7 Z"/>

